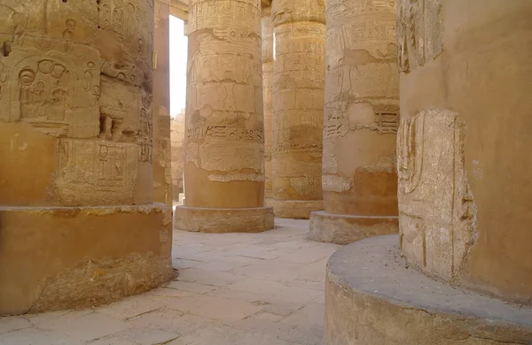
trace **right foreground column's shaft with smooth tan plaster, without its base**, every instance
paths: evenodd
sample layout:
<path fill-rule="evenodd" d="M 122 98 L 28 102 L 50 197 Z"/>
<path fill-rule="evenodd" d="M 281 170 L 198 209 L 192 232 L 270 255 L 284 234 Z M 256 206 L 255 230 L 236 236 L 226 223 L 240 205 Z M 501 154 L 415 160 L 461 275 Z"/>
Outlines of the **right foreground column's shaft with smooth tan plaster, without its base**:
<path fill-rule="evenodd" d="M 532 302 L 532 4 L 402 0 L 401 248 L 423 272 Z"/>

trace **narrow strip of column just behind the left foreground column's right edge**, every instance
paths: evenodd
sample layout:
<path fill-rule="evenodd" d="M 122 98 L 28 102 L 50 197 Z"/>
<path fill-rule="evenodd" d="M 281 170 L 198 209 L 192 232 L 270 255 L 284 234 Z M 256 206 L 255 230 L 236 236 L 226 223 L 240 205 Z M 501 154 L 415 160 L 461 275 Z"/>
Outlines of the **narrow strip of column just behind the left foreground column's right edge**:
<path fill-rule="evenodd" d="M 154 2 L 153 200 L 172 205 L 169 0 Z"/>

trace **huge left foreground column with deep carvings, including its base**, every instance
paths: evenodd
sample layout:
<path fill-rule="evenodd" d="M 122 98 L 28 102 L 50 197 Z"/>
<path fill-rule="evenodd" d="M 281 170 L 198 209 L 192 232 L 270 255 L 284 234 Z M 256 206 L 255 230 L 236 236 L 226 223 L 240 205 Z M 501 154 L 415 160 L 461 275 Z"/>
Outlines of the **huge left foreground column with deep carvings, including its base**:
<path fill-rule="evenodd" d="M 153 203 L 153 1 L 0 4 L 0 314 L 172 276 Z"/>

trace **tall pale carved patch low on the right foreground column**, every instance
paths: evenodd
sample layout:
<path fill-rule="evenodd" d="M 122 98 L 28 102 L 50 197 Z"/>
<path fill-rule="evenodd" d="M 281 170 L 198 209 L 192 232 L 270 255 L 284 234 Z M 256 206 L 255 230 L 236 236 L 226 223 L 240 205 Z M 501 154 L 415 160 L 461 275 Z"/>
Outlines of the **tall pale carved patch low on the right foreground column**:
<path fill-rule="evenodd" d="M 475 208 L 464 167 L 464 124 L 439 109 L 401 120 L 397 135 L 403 254 L 430 275 L 454 280 L 474 242 Z"/>

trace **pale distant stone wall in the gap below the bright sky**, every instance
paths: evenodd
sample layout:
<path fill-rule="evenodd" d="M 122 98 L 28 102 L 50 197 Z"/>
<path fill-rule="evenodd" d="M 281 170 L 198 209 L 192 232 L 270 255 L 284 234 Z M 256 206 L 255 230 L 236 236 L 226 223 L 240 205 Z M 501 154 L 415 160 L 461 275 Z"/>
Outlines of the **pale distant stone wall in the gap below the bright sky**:
<path fill-rule="evenodd" d="M 178 200 L 179 193 L 184 192 L 184 114 L 179 114 L 175 119 L 172 119 L 170 126 L 172 142 L 172 187 L 174 189 L 174 200 Z"/>

